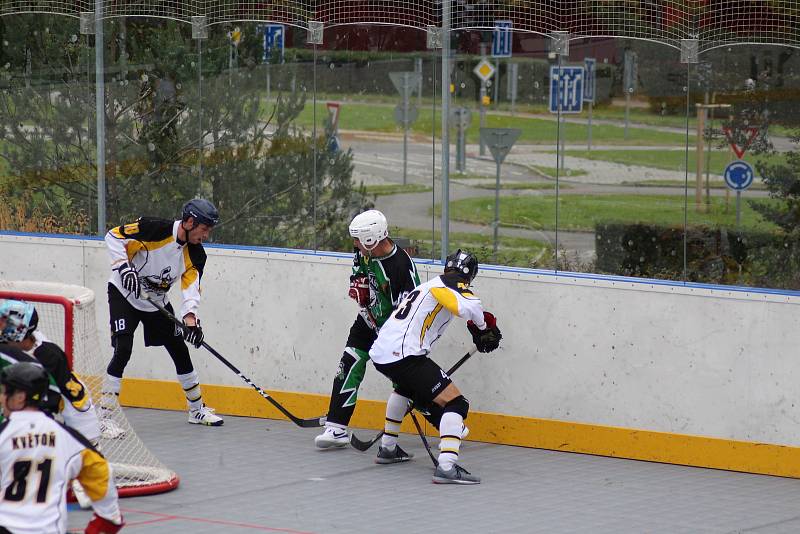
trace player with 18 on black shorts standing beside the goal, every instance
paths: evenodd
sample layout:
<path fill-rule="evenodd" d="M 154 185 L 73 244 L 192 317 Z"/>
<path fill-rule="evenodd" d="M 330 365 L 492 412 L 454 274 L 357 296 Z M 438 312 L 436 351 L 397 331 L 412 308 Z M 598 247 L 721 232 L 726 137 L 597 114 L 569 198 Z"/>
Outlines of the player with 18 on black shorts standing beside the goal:
<path fill-rule="evenodd" d="M 219 222 L 219 212 L 205 199 L 190 200 L 183 206 L 177 221 L 141 217 L 131 224 L 112 228 L 106 234 L 106 247 L 111 260 L 108 281 L 108 308 L 111 344 L 114 355 L 106 369 L 101 399 L 103 424 L 113 420 L 104 417 L 114 408 L 122 385 L 122 375 L 133 350 L 133 334 L 141 323 L 146 346 L 163 346 L 173 363 L 178 381 L 189 405 L 189 422 L 221 426 L 223 420 L 203 403 L 200 379 L 194 369 L 186 342 L 195 348 L 203 343 L 203 329 L 197 318 L 200 306 L 200 279 L 206 264 L 203 241 L 208 239 Z M 180 284 L 183 303 L 175 313 L 167 293 Z M 183 319 L 176 328 L 142 295 Z"/>

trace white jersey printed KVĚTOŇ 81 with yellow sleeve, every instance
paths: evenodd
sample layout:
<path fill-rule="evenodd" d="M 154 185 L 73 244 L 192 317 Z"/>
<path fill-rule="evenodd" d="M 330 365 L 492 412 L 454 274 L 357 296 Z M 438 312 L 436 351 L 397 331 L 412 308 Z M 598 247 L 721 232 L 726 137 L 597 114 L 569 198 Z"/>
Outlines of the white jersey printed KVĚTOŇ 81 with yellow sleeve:
<path fill-rule="evenodd" d="M 111 465 L 80 433 L 40 410 L 12 412 L 0 424 L 0 526 L 14 534 L 64 534 L 73 478 L 97 515 L 121 520 Z"/>

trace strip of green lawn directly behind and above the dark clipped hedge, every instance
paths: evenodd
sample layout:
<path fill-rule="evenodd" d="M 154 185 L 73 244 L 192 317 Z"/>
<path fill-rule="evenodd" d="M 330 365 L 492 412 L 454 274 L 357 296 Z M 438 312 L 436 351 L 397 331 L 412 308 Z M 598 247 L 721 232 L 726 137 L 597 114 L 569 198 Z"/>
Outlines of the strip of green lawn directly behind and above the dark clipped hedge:
<path fill-rule="evenodd" d="M 689 204 L 690 225 L 734 227 L 735 200 L 726 207 L 724 198 L 712 198 L 710 213 L 697 213 Z M 771 202 L 763 199 L 759 202 Z M 500 199 L 502 226 L 552 230 L 556 225 L 555 196 L 503 197 Z M 438 215 L 440 207 L 436 207 Z M 682 226 L 684 199 L 668 195 L 560 195 L 560 230 L 592 231 L 597 223 L 652 223 Z M 494 219 L 494 197 L 468 198 L 450 204 L 450 217 L 464 222 L 490 224 Z M 742 202 L 742 227 L 769 230 L 774 226 L 761 220 L 749 202 Z"/>

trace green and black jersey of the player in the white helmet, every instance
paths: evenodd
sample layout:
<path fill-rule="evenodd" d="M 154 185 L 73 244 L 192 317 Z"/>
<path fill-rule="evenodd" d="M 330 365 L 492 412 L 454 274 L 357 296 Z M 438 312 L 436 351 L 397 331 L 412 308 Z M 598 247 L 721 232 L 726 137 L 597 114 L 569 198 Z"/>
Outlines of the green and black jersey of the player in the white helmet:
<path fill-rule="evenodd" d="M 353 275 L 359 274 L 369 278 L 369 306 L 360 313 L 375 329 L 383 326 L 403 297 L 419 285 L 417 267 L 397 245 L 380 258 L 365 257 L 356 249 Z"/>

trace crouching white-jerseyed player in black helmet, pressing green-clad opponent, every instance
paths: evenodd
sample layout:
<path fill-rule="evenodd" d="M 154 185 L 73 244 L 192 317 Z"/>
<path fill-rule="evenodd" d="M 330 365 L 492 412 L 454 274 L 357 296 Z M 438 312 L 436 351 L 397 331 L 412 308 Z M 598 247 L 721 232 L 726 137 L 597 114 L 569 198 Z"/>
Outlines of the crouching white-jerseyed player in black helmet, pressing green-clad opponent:
<path fill-rule="evenodd" d="M 437 484 L 479 484 L 480 478 L 456 464 L 469 403 L 450 377 L 428 357 L 433 343 L 453 316 L 467 319 L 480 352 L 491 352 L 502 335 L 494 316 L 483 310 L 469 286 L 478 274 L 478 260 L 460 249 L 447 257 L 444 274 L 417 286 L 384 323 L 369 356 L 375 368 L 395 384 L 386 405 L 385 433 L 377 463 L 410 459 L 397 445 L 397 435 L 409 400 L 418 407 L 436 405 L 444 413 L 439 424 Z"/>

